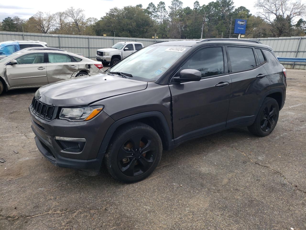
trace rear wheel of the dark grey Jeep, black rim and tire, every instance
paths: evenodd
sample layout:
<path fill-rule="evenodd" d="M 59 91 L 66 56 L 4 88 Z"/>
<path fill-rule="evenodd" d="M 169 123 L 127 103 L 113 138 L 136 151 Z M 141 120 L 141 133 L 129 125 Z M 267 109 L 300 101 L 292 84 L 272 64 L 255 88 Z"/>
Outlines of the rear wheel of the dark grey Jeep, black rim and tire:
<path fill-rule="evenodd" d="M 275 128 L 279 115 L 279 106 L 274 98 L 265 98 L 261 104 L 254 124 L 248 130 L 257 136 L 268 136 Z"/>

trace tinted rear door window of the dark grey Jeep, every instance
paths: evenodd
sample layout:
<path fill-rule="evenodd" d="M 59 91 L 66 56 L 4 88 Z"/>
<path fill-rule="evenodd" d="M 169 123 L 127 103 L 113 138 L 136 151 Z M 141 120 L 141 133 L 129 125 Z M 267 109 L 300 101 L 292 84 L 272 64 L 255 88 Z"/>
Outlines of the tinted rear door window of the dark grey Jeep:
<path fill-rule="evenodd" d="M 232 72 L 248 70 L 256 67 L 255 56 L 252 48 L 228 47 Z"/>

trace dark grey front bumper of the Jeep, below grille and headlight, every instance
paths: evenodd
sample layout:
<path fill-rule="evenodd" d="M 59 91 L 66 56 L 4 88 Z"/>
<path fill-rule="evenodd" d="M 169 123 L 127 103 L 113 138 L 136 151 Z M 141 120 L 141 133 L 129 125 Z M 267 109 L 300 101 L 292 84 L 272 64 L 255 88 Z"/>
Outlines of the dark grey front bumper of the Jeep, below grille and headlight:
<path fill-rule="evenodd" d="M 29 110 L 37 148 L 51 163 L 80 170 L 100 168 L 105 152 L 99 152 L 99 149 L 107 129 L 114 122 L 106 113 L 102 111 L 97 117 L 85 122 L 59 119 L 44 121 Z M 86 143 L 80 152 L 64 151 L 55 136 L 85 138 Z"/>

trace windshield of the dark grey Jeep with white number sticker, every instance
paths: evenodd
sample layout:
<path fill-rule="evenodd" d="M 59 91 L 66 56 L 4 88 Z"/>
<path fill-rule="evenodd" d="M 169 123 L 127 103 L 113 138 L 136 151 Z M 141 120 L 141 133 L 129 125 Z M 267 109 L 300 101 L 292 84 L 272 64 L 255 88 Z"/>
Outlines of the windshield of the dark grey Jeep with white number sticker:
<path fill-rule="evenodd" d="M 131 74 L 133 80 L 155 82 L 190 47 L 148 46 L 107 70 Z"/>

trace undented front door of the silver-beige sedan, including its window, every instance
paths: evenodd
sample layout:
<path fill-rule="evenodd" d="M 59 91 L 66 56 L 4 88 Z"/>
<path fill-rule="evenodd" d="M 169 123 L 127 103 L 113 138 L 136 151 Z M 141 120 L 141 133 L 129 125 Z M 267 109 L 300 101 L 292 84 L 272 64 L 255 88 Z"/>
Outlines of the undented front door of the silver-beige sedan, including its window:
<path fill-rule="evenodd" d="M 16 65 L 6 66 L 11 87 L 43 86 L 48 84 L 44 52 L 28 53 L 18 58 Z"/>

